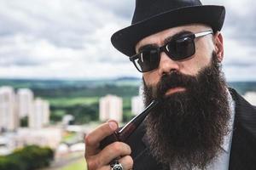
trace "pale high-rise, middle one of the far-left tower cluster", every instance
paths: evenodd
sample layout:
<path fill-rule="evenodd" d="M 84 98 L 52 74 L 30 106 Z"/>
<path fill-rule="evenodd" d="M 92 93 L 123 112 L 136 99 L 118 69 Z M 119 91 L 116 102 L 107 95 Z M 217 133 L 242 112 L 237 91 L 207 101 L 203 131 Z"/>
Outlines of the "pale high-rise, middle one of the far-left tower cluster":
<path fill-rule="evenodd" d="M 20 118 L 32 114 L 33 93 L 28 88 L 20 88 L 17 92 L 18 114 Z"/>

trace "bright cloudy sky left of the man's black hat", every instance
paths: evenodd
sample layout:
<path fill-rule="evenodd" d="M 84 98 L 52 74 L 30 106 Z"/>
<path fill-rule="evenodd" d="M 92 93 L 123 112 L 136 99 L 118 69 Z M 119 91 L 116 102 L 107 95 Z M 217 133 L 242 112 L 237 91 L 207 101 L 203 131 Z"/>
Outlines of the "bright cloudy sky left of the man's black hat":
<path fill-rule="evenodd" d="M 115 1 L 2 0 L 0 76 L 118 76 L 125 71 L 116 71 L 113 65 L 131 64 L 111 46 L 110 37 L 128 24 L 131 10 L 127 3 Z"/>

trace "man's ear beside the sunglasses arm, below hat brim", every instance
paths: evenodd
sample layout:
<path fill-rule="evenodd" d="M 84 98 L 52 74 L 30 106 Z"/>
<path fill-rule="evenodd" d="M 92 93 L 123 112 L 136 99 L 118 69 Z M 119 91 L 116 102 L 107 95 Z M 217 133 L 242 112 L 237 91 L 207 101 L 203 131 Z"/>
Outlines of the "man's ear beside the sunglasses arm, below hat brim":
<path fill-rule="evenodd" d="M 222 34 L 219 31 L 217 31 L 214 34 L 213 38 L 215 52 L 217 54 L 218 61 L 221 62 L 224 58 L 224 44 Z"/>

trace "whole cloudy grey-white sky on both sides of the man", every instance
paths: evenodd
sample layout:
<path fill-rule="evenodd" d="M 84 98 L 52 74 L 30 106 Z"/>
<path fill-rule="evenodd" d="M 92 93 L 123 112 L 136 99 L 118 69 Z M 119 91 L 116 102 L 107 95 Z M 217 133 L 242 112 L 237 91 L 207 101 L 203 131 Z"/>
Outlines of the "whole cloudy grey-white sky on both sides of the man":
<path fill-rule="evenodd" d="M 226 7 L 224 72 L 256 81 L 256 1 Z M 133 0 L 0 0 L 0 78 L 141 77 L 110 37 L 131 23 Z"/>

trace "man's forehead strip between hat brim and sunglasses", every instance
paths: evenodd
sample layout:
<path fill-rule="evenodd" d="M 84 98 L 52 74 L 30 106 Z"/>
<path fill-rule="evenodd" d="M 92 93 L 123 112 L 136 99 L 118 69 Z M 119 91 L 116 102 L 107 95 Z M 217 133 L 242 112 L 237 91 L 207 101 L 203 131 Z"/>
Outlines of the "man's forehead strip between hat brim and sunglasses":
<path fill-rule="evenodd" d="M 186 26 L 177 26 L 177 27 L 169 28 L 167 30 L 157 32 L 148 37 L 144 37 L 142 40 L 137 42 L 136 51 L 138 48 L 141 48 L 147 44 L 162 45 L 162 43 L 165 41 L 167 37 L 172 37 L 173 35 L 181 31 L 199 32 L 199 31 L 207 31 L 207 30 L 212 30 L 212 29 L 210 26 L 206 26 L 202 24 L 191 24 Z"/>

